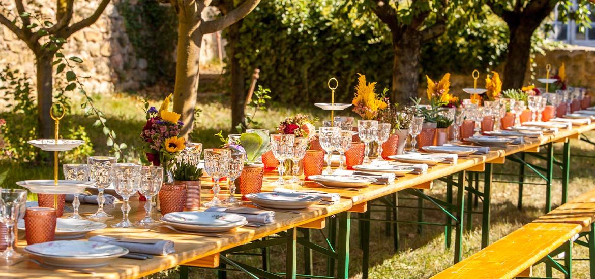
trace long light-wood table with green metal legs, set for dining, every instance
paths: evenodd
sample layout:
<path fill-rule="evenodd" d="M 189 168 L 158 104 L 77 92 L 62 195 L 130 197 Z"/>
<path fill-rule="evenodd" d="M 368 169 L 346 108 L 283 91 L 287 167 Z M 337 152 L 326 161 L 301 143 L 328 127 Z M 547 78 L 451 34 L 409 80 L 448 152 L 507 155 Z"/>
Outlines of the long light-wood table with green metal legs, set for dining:
<path fill-rule="evenodd" d="M 524 144 L 509 145 L 506 148 L 491 148 L 490 153 L 483 156 L 471 156 L 469 158 L 459 158 L 457 164 L 439 164 L 431 167 L 424 175 L 405 175 L 399 177 L 394 183 L 390 185 L 370 185 L 367 188 L 362 189 L 360 192 L 345 191 L 340 189 L 322 189 L 325 192 L 335 192 L 342 196 L 342 200 L 337 204 L 326 206 L 326 205 L 315 205 L 314 207 L 308 208 L 307 210 L 301 210 L 300 214 L 289 214 L 289 213 L 277 213 L 276 223 L 268 226 L 259 228 L 242 227 L 234 232 L 228 232 L 221 234 L 221 238 L 216 237 L 205 237 L 205 236 L 192 236 L 188 234 L 179 233 L 156 233 L 147 232 L 146 229 L 113 229 L 107 228 L 104 230 L 98 230 L 90 233 L 89 236 L 101 234 L 114 237 L 146 237 L 146 238 L 159 238 L 173 240 L 176 243 L 176 253 L 168 256 L 156 256 L 154 259 L 148 259 L 146 261 L 139 261 L 134 259 L 116 259 L 112 261 L 107 267 L 96 268 L 94 271 L 95 277 L 101 278 L 139 278 L 149 274 L 154 274 L 159 271 L 167 270 L 168 268 L 176 267 L 177 265 L 191 265 L 198 267 L 214 267 L 218 263 L 218 254 L 224 252 L 227 249 L 234 248 L 254 240 L 262 239 L 262 237 L 271 236 L 273 234 L 290 232 L 284 235 L 287 237 L 293 237 L 295 240 L 295 230 L 297 227 L 306 227 L 321 229 L 324 227 L 325 217 L 330 215 L 339 216 L 340 228 L 339 232 L 339 243 L 337 244 L 337 251 L 339 253 L 339 263 L 337 268 L 337 277 L 347 278 L 348 270 L 348 252 L 349 252 L 349 220 L 350 212 L 366 212 L 367 204 L 369 201 L 374 199 L 393 194 L 395 192 L 402 191 L 404 189 L 411 189 L 416 187 L 424 188 L 435 179 L 444 179 L 455 174 L 459 174 L 458 185 L 459 185 L 459 204 L 456 220 L 462 223 L 463 210 L 462 210 L 462 189 L 464 189 L 464 172 L 467 170 L 472 171 L 486 171 L 491 169 L 493 163 L 504 163 L 506 156 L 519 153 L 522 151 L 534 151 L 537 150 L 541 145 L 551 144 L 552 142 L 568 142 L 569 138 L 578 138 L 580 134 L 586 131 L 595 129 L 595 124 L 573 126 L 570 130 L 562 129 L 555 135 L 546 135 L 538 139 L 527 139 Z M 461 175 L 462 174 L 462 175 Z M 491 179 L 491 176 L 490 176 Z M 271 191 L 273 185 L 268 182 L 274 180 L 272 177 L 265 179 L 265 185 L 263 191 Z M 488 179 L 486 179 L 488 181 Z M 451 180 L 451 182 L 453 182 Z M 206 186 L 208 182 L 205 181 Z M 297 189 L 312 189 L 317 186 L 312 183 L 306 183 Z M 489 191 L 487 193 L 489 196 Z M 484 207 L 489 208 L 489 199 L 484 199 Z M 133 212 L 130 214 L 130 218 L 133 221 L 140 220 L 144 215 L 142 209 L 142 203 L 133 201 L 131 202 Z M 95 211 L 93 205 L 83 205 L 83 213 L 93 213 Z M 107 207 L 107 211 L 111 214 L 116 215 L 114 220 L 107 221 L 108 224 L 116 223 L 121 218 L 120 204 L 115 204 Z M 462 234 L 459 230 L 462 226 L 458 226 L 457 234 Z M 346 232 L 345 232 L 346 231 Z M 288 248 L 295 251 L 296 242 L 290 241 L 291 246 Z M 22 247 L 25 243 L 21 240 L 19 245 Z M 460 243 L 459 243 L 460 245 Z M 289 255 L 290 253 L 288 253 Z M 460 254 L 459 254 L 460 257 Z M 288 259 L 287 266 L 287 277 L 295 277 L 295 253 L 293 259 Z M 68 270 L 47 270 L 40 268 L 32 262 L 21 262 L 20 264 L 13 265 L 11 267 L 0 268 L 0 277 L 2 278 L 30 278 L 30 277 L 89 277 L 87 274 L 80 274 Z"/>

